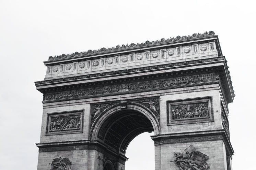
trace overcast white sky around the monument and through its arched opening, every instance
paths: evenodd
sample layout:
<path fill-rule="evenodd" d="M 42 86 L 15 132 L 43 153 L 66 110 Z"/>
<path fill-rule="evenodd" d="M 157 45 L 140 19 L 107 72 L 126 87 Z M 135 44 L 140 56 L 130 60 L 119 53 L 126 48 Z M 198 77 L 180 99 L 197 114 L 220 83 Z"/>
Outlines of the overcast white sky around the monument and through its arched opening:
<path fill-rule="evenodd" d="M 256 160 L 252 2 L 0 0 L 0 170 L 37 168 L 35 143 L 43 109 L 34 81 L 44 79 L 43 61 L 49 56 L 210 30 L 219 36 L 236 94 L 229 104 L 233 170 L 252 169 Z M 153 141 L 145 134 L 129 145 L 126 170 L 154 169 Z"/>

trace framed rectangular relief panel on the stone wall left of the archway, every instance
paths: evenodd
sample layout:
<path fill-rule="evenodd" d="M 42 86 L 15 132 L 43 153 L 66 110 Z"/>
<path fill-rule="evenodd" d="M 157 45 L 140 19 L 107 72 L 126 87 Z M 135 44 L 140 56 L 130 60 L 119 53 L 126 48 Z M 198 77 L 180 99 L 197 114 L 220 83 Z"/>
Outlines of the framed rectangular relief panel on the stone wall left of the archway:
<path fill-rule="evenodd" d="M 84 110 L 48 113 L 46 135 L 82 132 Z"/>

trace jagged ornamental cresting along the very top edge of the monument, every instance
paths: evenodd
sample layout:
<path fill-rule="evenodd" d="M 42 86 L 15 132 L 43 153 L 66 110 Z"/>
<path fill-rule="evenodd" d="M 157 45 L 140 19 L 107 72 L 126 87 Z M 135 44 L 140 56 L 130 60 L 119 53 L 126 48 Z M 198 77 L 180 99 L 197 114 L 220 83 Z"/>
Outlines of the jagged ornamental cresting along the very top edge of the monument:
<path fill-rule="evenodd" d="M 54 60 L 62 60 L 62 59 L 67 59 L 67 58 L 75 58 L 75 57 L 82 57 L 82 56 L 91 56 L 91 55 L 95 55 L 95 54 L 104 54 L 104 53 L 111 53 L 111 52 L 121 52 L 124 50 L 128 50 L 128 49 L 136 49 L 136 48 L 141 48 L 141 47 L 151 47 L 151 46 L 155 46 L 155 45 L 161 45 L 161 44 L 167 44 L 167 43 L 172 43 L 172 42 L 182 42 L 182 41 L 188 41 L 188 40 L 194 40 L 194 39 L 199 39 L 199 38 L 204 38 L 204 37 L 210 37 L 210 36 L 214 36 L 214 32 L 213 31 L 209 31 L 205 32 L 205 33 L 193 33 L 192 36 L 177 36 L 176 38 L 168 38 L 167 40 L 162 38 L 161 40 L 156 40 L 156 41 L 146 41 L 145 43 L 131 43 L 130 45 L 126 44 L 126 45 L 117 45 L 116 47 L 112 47 L 112 48 L 101 48 L 98 50 L 91 50 L 89 49 L 87 52 L 75 52 L 72 54 L 62 54 L 62 55 L 57 55 L 57 56 L 50 56 L 48 61 L 54 61 Z M 47 61 L 46 61 L 47 62 Z"/>

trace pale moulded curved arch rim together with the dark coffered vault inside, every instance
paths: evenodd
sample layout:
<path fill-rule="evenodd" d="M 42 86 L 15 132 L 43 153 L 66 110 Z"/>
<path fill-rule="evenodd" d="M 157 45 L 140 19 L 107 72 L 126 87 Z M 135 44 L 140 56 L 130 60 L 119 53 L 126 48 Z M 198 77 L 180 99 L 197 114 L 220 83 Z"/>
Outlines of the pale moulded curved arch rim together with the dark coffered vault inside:
<path fill-rule="evenodd" d="M 99 114 L 90 132 L 91 141 L 99 141 L 112 150 L 125 154 L 129 143 L 143 132 L 160 134 L 157 117 L 147 107 L 127 102 L 125 109 L 121 103 L 112 105 Z"/>

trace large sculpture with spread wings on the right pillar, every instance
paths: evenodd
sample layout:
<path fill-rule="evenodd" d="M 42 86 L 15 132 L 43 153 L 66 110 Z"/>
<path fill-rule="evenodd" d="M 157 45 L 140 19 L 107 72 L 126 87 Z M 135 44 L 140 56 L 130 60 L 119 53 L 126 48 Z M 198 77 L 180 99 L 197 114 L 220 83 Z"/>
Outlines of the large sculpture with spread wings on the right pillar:
<path fill-rule="evenodd" d="M 193 145 L 188 146 L 183 152 L 174 152 L 175 164 L 180 170 L 207 170 L 209 157 L 195 150 Z"/>

